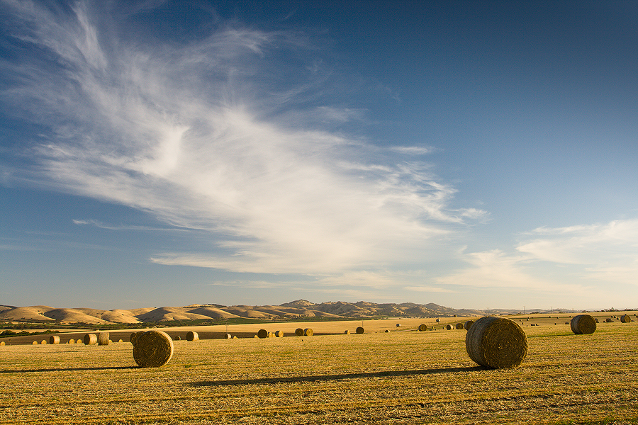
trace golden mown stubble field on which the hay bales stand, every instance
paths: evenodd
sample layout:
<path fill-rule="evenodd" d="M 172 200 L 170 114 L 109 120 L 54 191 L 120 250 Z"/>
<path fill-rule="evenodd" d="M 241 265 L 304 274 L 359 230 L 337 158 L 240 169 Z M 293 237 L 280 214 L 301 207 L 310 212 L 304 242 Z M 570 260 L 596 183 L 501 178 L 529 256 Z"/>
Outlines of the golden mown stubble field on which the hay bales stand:
<path fill-rule="evenodd" d="M 515 320 L 529 351 L 511 370 L 478 367 L 465 331 L 419 332 L 417 319 L 366 322 L 361 335 L 327 323 L 312 327 L 335 334 L 174 341 L 162 368 L 138 368 L 128 342 L 0 346 L 0 422 L 638 424 L 637 322 L 575 335 L 569 319 Z"/>

